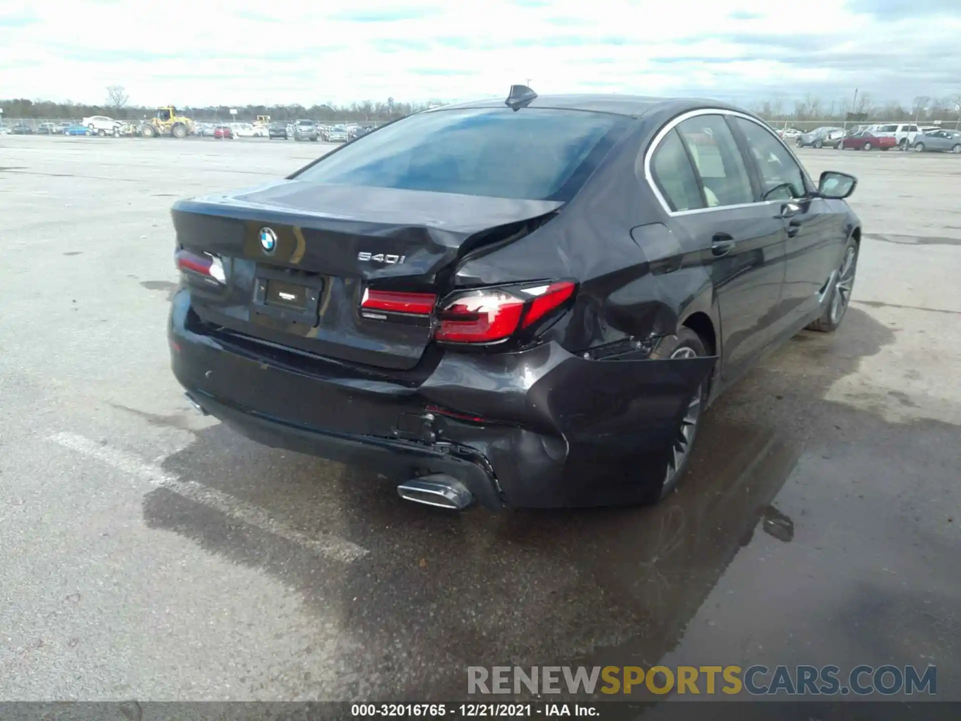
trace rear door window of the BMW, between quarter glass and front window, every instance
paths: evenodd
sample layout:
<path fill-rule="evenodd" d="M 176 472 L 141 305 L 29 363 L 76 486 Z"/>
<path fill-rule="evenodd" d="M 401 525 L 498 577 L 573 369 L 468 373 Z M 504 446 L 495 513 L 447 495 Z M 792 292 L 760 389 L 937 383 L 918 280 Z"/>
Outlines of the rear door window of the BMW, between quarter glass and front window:
<path fill-rule="evenodd" d="M 723 116 L 688 118 L 678 123 L 678 133 L 701 176 L 708 208 L 753 202 L 748 170 Z"/>

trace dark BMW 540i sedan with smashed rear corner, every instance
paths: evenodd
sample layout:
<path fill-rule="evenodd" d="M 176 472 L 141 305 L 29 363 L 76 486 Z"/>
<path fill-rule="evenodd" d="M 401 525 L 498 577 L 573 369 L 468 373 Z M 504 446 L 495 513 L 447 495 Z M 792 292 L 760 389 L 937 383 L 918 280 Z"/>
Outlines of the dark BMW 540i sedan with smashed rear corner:
<path fill-rule="evenodd" d="M 461 509 L 654 502 L 762 351 L 844 318 L 856 180 L 722 103 L 511 88 L 173 208 L 191 403 Z"/>

